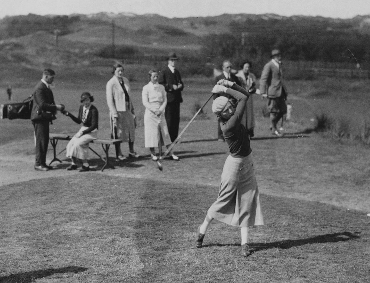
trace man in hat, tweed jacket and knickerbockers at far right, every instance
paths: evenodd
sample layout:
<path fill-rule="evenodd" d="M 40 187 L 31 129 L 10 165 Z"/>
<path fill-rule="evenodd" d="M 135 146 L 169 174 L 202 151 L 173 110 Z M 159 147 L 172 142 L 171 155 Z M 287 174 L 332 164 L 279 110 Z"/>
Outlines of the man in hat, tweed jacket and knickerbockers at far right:
<path fill-rule="evenodd" d="M 259 80 L 259 89 L 263 98 L 268 98 L 267 108 L 270 113 L 272 134 L 282 136 L 277 130 L 277 123 L 286 113 L 287 90 L 282 82 L 281 52 L 278 49 L 271 51 L 271 61 L 263 67 Z"/>

